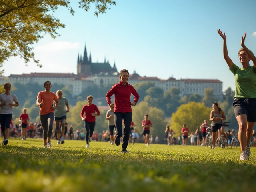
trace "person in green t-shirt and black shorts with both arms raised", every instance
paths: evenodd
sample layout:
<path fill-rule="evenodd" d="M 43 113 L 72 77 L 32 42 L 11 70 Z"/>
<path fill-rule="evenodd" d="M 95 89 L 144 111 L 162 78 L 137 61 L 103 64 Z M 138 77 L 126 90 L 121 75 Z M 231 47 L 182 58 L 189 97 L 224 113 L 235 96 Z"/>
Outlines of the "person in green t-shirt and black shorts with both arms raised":
<path fill-rule="evenodd" d="M 230 71 L 235 76 L 235 96 L 234 96 L 234 113 L 239 125 L 238 140 L 241 146 L 240 160 L 247 160 L 251 154 L 250 138 L 252 129 L 256 122 L 256 58 L 252 51 L 245 45 L 244 40 L 246 33 L 242 37 L 242 48 L 238 51 L 238 57 L 242 68 L 236 66 L 228 56 L 227 41 L 225 33 L 217 30 L 223 38 L 223 56 L 226 60 Z M 253 66 L 249 61 L 252 60 Z"/>

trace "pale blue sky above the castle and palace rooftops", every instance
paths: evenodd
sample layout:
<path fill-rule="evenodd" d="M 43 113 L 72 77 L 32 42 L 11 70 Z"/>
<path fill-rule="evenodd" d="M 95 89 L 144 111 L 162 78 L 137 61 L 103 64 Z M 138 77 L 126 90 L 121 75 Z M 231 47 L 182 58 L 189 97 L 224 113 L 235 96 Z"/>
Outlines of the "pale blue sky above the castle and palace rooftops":
<path fill-rule="evenodd" d="M 118 70 L 134 70 L 140 76 L 167 79 L 210 78 L 234 89 L 234 76 L 222 55 L 226 33 L 228 53 L 238 66 L 241 36 L 247 32 L 246 46 L 256 53 L 256 1 L 238 0 L 116 0 L 106 14 L 94 16 L 71 0 L 75 15 L 60 8 L 54 14 L 66 25 L 60 37 L 45 36 L 34 45 L 36 59 L 25 66 L 20 58 L 4 63 L 5 76 L 30 72 L 73 72 L 77 54 L 92 53 L 92 62 L 106 57 Z M 252 63 L 251 63 L 252 65 Z"/>

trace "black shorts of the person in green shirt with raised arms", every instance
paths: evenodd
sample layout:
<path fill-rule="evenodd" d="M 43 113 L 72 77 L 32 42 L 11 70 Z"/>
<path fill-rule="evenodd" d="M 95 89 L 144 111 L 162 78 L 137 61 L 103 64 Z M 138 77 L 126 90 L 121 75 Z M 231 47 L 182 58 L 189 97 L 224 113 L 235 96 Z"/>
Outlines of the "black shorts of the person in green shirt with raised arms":
<path fill-rule="evenodd" d="M 246 114 L 249 122 L 256 122 L 256 99 L 234 98 L 233 106 L 236 117 L 241 114 Z"/>

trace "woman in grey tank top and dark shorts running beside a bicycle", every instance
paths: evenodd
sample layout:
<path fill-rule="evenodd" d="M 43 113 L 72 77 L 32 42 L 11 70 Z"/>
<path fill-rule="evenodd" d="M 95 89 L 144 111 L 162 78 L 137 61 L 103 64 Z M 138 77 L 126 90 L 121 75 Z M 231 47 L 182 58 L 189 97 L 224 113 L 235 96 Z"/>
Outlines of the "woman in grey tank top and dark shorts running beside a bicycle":
<path fill-rule="evenodd" d="M 226 138 L 226 133 L 224 132 L 224 126 L 223 126 L 223 120 L 226 119 L 226 116 L 224 112 L 219 108 L 218 103 L 215 101 L 212 104 L 212 111 L 210 114 L 210 121 L 211 123 L 211 129 L 212 129 L 212 149 L 215 147 L 215 142 L 216 142 L 216 132 L 220 130 L 220 134 L 223 134 L 224 137 Z"/>

